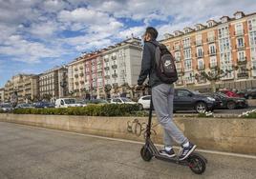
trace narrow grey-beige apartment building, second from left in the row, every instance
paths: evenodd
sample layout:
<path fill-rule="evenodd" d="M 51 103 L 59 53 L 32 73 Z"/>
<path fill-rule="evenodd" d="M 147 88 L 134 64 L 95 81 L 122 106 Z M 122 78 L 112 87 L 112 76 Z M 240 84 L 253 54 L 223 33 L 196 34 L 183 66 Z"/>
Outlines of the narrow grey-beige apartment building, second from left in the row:
<path fill-rule="evenodd" d="M 56 67 L 39 74 L 40 99 L 54 101 L 66 96 L 68 93 L 67 73 L 66 67 Z"/>

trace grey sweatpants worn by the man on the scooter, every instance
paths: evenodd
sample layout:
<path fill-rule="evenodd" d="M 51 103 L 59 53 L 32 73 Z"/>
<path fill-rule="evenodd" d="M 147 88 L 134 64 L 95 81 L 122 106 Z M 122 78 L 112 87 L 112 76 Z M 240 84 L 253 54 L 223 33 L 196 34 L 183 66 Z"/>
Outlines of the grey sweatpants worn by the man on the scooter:
<path fill-rule="evenodd" d="M 152 100 L 160 125 L 163 127 L 163 143 L 165 147 L 172 147 L 174 140 L 182 145 L 188 140 L 173 122 L 174 86 L 160 84 L 152 88 Z"/>

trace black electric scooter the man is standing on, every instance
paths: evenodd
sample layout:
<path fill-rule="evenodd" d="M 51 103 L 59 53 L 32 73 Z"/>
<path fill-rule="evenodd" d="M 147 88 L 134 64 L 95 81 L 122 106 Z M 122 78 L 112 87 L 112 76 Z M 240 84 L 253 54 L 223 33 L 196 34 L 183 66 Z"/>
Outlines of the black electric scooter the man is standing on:
<path fill-rule="evenodd" d="M 203 157 L 203 155 L 192 152 L 186 159 L 179 160 L 179 155 L 176 157 L 167 157 L 160 154 L 159 149 L 156 148 L 154 143 L 152 142 L 150 135 L 151 135 L 151 121 L 152 121 L 152 110 L 153 110 L 153 102 L 152 97 L 150 100 L 150 110 L 149 110 L 149 117 L 148 117 L 148 124 L 145 130 L 145 145 L 140 149 L 141 158 L 144 161 L 149 162 L 152 157 L 155 157 L 159 160 L 163 160 L 166 162 L 175 163 L 181 166 L 189 167 L 194 173 L 202 174 L 206 169 L 207 160 Z"/>

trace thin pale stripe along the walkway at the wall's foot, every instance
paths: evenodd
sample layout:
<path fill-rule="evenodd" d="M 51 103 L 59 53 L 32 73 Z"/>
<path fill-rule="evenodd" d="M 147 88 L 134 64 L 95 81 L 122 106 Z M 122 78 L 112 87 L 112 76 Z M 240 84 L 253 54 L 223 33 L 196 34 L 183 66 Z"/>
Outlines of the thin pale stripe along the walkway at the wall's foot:
<path fill-rule="evenodd" d="M 0 122 L 3 122 L 3 121 L 0 121 Z M 75 131 L 67 131 L 67 130 L 60 130 L 60 129 L 47 129 L 47 128 L 40 128 L 40 127 L 23 125 L 23 124 L 17 124 L 17 123 L 10 123 L 10 122 L 4 122 L 4 123 L 14 124 L 14 125 L 17 125 L 17 126 L 24 126 L 24 127 L 28 127 L 28 128 L 32 128 L 32 129 L 52 130 L 52 131 L 56 131 L 56 132 L 70 133 L 70 134 L 75 134 L 75 135 L 81 135 L 81 136 L 93 137 L 93 138 L 105 139 L 105 140 L 112 140 L 112 141 L 118 141 L 118 142 L 140 144 L 140 145 L 144 144 L 143 142 L 139 142 L 139 141 L 132 141 L 132 140 L 120 139 L 120 138 L 103 137 L 103 136 L 98 136 L 98 135 L 93 135 L 93 134 L 78 133 L 78 132 L 75 132 Z M 163 145 L 155 144 L 155 146 L 162 147 Z M 174 149 L 180 149 L 179 147 L 176 147 L 176 146 L 173 147 L 173 148 Z M 240 153 L 230 153 L 230 152 L 216 151 L 216 150 L 210 150 L 210 149 L 196 149 L 196 150 L 200 151 L 200 152 L 203 152 L 203 153 L 219 154 L 219 155 L 225 155 L 225 156 L 234 156 L 234 157 L 256 159 L 255 155 L 240 154 Z"/>

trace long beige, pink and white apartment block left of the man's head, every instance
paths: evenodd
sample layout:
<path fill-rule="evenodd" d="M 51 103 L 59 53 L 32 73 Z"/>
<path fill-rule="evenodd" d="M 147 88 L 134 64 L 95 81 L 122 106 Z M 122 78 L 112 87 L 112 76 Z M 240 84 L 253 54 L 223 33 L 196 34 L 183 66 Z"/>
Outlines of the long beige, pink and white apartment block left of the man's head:
<path fill-rule="evenodd" d="M 75 96 L 105 97 L 105 86 L 120 89 L 137 84 L 141 65 L 140 39 L 84 54 L 68 65 L 69 90 Z M 121 91 L 120 91 L 121 92 Z"/>

